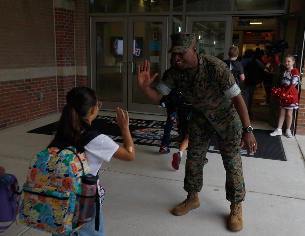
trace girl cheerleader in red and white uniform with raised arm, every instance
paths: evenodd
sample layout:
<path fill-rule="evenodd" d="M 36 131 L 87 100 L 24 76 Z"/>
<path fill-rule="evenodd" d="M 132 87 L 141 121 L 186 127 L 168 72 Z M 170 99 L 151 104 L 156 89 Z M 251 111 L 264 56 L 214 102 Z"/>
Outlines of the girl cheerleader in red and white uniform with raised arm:
<path fill-rule="evenodd" d="M 275 63 L 283 70 L 283 77 L 282 77 L 282 86 L 281 88 L 285 90 L 283 92 L 283 96 L 291 95 L 292 96 L 292 103 L 281 107 L 280 116 L 278 118 L 278 128 L 273 131 L 270 135 L 282 135 L 282 126 L 285 120 L 285 115 L 287 116 L 287 129 L 285 135 L 287 138 L 292 138 L 291 134 L 291 124 L 292 124 L 292 114 L 293 109 L 299 108 L 299 99 L 298 99 L 298 91 L 296 89 L 296 85 L 299 83 L 299 70 L 294 68 L 293 65 L 295 63 L 295 57 L 292 55 L 286 55 L 284 60 L 284 65 L 282 65 L 278 59 L 278 54 L 275 54 Z"/>

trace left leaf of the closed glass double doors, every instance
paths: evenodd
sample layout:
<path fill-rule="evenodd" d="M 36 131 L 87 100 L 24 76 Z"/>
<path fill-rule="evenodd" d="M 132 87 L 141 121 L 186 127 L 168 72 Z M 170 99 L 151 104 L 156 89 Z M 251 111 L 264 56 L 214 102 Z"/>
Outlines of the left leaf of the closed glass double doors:
<path fill-rule="evenodd" d="M 91 19 L 91 85 L 104 109 L 127 109 L 127 18 Z"/>

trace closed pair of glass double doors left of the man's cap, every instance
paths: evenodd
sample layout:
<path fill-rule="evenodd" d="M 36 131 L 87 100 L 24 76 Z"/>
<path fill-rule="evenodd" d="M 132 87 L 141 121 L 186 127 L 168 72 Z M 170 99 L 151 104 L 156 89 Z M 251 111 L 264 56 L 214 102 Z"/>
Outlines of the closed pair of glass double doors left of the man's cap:
<path fill-rule="evenodd" d="M 91 85 L 102 109 L 164 114 L 138 87 L 137 67 L 150 62 L 155 87 L 166 70 L 166 36 L 167 17 L 91 18 Z"/>

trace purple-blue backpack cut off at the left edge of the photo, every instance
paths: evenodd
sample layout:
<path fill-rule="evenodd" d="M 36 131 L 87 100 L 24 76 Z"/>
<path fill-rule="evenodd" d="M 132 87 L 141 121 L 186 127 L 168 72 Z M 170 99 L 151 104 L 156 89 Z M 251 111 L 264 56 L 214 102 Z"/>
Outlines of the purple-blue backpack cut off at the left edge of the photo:
<path fill-rule="evenodd" d="M 0 233 L 7 230 L 20 212 L 21 192 L 16 177 L 4 174 L 0 178 Z"/>

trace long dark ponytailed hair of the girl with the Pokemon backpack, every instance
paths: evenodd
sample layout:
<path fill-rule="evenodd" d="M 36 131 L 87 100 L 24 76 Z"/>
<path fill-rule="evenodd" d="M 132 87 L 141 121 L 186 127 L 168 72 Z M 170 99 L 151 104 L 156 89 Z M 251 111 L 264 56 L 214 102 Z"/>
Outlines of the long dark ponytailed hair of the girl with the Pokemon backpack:
<path fill-rule="evenodd" d="M 96 94 L 91 88 L 76 87 L 68 92 L 66 101 L 67 104 L 56 123 L 55 137 L 48 148 L 63 149 L 74 146 L 77 152 L 84 152 L 84 146 L 79 139 L 82 131 L 92 129 L 85 116 L 97 104 Z"/>

